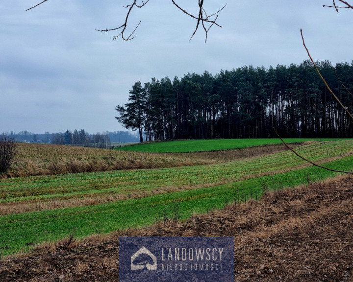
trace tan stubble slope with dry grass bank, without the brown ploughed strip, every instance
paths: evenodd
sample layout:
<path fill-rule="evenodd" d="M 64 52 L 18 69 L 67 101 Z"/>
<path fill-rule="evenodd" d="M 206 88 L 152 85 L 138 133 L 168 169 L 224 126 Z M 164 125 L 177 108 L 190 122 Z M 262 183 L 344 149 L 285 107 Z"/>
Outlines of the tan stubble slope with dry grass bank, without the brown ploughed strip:
<path fill-rule="evenodd" d="M 212 160 L 195 160 L 185 156 L 169 158 L 153 153 L 141 154 L 77 146 L 20 143 L 19 154 L 7 177 L 161 168 L 210 162 Z"/>

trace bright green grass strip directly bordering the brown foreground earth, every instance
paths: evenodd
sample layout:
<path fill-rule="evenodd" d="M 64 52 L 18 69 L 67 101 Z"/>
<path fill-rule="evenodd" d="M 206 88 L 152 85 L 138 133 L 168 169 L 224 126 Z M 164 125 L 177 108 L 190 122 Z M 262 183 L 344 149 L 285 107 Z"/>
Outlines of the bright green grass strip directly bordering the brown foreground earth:
<path fill-rule="evenodd" d="M 352 168 L 352 162 L 353 156 L 350 156 L 326 165 L 349 169 Z M 195 212 L 223 208 L 233 199 L 245 200 L 251 194 L 260 197 L 264 187 L 272 189 L 293 187 L 305 184 L 308 176 L 314 181 L 334 175 L 333 172 L 310 166 L 212 188 L 184 190 L 90 207 L 5 215 L 0 217 L 0 248 L 6 248 L 3 249 L 5 255 L 21 250 L 26 243 L 62 239 L 74 231 L 76 237 L 82 237 L 120 228 L 151 225 L 161 211 L 167 211 L 172 217 L 175 201 L 178 199 L 180 218 L 187 218 Z"/>

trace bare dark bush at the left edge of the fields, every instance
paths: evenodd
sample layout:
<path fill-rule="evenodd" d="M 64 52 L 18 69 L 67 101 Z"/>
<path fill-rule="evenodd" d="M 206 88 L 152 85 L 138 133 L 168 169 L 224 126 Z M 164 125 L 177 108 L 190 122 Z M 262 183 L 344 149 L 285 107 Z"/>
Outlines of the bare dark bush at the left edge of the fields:
<path fill-rule="evenodd" d="M 17 142 L 4 133 L 0 136 L 0 173 L 7 173 L 17 153 Z"/>

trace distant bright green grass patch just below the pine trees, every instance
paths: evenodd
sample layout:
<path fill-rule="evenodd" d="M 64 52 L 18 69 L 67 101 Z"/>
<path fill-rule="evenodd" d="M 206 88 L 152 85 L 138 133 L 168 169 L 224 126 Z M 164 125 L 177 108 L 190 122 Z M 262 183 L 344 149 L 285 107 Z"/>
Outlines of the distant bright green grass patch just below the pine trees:
<path fill-rule="evenodd" d="M 287 143 L 312 141 L 314 139 L 284 139 Z M 329 139 L 315 139 L 316 141 L 328 141 Z M 281 144 L 279 139 L 221 139 L 221 140 L 183 140 L 163 141 L 136 144 L 116 150 L 137 152 L 200 152 L 214 150 L 243 149 L 253 146 Z"/>

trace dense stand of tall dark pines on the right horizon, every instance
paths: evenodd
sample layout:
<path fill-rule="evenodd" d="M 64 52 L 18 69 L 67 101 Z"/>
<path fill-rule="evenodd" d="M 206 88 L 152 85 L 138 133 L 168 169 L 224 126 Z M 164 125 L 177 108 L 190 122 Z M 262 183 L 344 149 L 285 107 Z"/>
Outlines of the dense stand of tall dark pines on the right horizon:
<path fill-rule="evenodd" d="M 353 62 L 317 62 L 353 112 Z M 289 67 L 245 66 L 135 82 L 116 119 L 140 142 L 173 139 L 352 137 L 353 121 L 332 98 L 310 60 Z"/>

